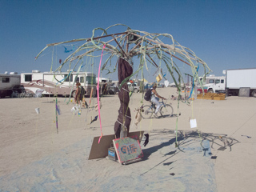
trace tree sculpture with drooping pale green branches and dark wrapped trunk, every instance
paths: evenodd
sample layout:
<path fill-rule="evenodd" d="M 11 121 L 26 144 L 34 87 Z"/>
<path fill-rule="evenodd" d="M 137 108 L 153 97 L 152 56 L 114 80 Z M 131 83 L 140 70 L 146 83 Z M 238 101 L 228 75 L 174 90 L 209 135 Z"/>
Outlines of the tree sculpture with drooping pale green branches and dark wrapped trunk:
<path fill-rule="evenodd" d="M 117 26 L 126 27 L 127 29 L 121 33 L 109 34 L 108 31 L 110 29 L 113 30 L 113 27 Z M 95 37 L 95 32 L 98 30 L 101 30 L 102 34 Z M 167 41 L 170 41 L 170 43 L 167 44 L 162 42 L 162 38 L 167 38 Z M 70 54 L 60 66 L 58 66 L 55 72 L 61 71 L 62 67 L 67 63 L 69 63 L 70 71 L 74 70 L 77 66 L 80 66 L 78 68 L 79 72 L 82 66 L 82 59 L 85 57 L 93 57 L 92 53 L 97 53 L 97 51 L 102 50 L 104 45 L 106 46 L 104 49 L 104 57 L 107 56 L 107 58 L 106 62 L 104 62 L 102 65 L 101 70 L 109 70 L 109 72 L 114 72 L 117 65 L 114 66 L 114 70 L 110 71 L 110 66 L 112 65 L 111 61 L 113 59 L 116 61 L 118 58 L 118 81 L 120 83 L 118 97 L 121 102 L 121 106 L 118 111 L 118 120 L 114 125 L 117 138 L 120 137 L 121 126 L 125 127 L 125 130 L 129 132 L 130 109 L 128 103 L 130 98 L 126 82 L 128 82 L 128 80 L 134 74 L 137 74 L 139 70 L 143 71 L 144 67 L 146 67 L 146 70 L 148 70 L 148 65 L 150 64 L 158 68 L 159 73 L 162 73 L 161 62 L 163 62 L 173 78 L 175 85 L 178 87 L 178 90 L 180 90 L 181 83 L 184 83 L 184 81 L 182 80 L 182 73 L 178 64 L 176 63 L 176 60 L 190 66 L 194 80 L 198 79 L 199 66 L 204 68 L 204 75 L 210 73 L 210 68 L 206 65 L 206 62 L 203 62 L 201 58 L 198 58 L 196 54 L 194 54 L 194 52 L 189 48 L 181 46 L 174 40 L 172 35 L 150 34 L 139 30 L 131 30 L 130 27 L 122 24 L 116 24 L 106 29 L 96 28 L 92 31 L 91 38 L 79 38 L 66 42 L 48 44 L 38 54 L 38 56 L 42 54 L 47 47 L 58 46 L 71 42 L 83 43 L 81 46 L 78 46 L 76 50 L 74 49 L 74 52 Z M 132 59 L 134 56 L 137 56 L 140 60 L 140 63 L 136 69 L 134 69 L 135 66 Z M 158 64 L 159 62 L 160 65 Z M 72 63 L 74 63 L 73 69 L 71 69 Z M 135 71 L 134 73 L 133 69 Z M 174 74 L 178 74 L 178 81 L 174 77 Z M 198 82 L 201 83 L 200 81 Z"/>

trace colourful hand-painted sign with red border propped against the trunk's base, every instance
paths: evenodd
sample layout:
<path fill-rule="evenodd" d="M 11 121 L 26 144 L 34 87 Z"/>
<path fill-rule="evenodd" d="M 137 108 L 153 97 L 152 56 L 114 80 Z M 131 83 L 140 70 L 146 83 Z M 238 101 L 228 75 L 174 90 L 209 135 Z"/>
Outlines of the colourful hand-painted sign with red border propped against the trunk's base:
<path fill-rule="evenodd" d="M 117 152 L 118 162 L 128 162 L 142 158 L 143 153 L 137 135 L 133 137 L 114 139 L 114 149 Z"/>

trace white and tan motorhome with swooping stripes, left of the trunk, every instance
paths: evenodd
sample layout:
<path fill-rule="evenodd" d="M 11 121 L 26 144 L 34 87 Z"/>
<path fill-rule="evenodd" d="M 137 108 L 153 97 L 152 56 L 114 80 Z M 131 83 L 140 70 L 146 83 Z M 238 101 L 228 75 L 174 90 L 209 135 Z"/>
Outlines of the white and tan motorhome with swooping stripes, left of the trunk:
<path fill-rule="evenodd" d="M 44 90 L 44 95 L 66 95 L 74 97 L 75 82 L 80 82 L 86 90 L 86 96 L 95 97 L 96 91 L 96 75 L 90 72 L 40 72 L 32 70 L 32 73 L 21 74 L 21 85 L 26 91 L 36 93 L 37 90 Z"/>

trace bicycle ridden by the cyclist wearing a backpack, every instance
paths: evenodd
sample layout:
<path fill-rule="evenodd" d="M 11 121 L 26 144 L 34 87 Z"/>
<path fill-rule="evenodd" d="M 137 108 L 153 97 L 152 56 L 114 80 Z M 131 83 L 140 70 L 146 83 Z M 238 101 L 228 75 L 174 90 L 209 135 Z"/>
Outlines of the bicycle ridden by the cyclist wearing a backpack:
<path fill-rule="evenodd" d="M 169 104 L 166 104 L 165 102 L 160 102 L 160 112 L 161 116 L 163 118 L 171 117 L 174 113 L 174 108 L 170 106 Z M 154 111 L 156 110 L 156 106 L 153 102 L 150 102 L 150 106 L 141 106 L 140 113 L 142 115 L 142 118 L 151 118 L 152 114 L 154 114 Z"/>

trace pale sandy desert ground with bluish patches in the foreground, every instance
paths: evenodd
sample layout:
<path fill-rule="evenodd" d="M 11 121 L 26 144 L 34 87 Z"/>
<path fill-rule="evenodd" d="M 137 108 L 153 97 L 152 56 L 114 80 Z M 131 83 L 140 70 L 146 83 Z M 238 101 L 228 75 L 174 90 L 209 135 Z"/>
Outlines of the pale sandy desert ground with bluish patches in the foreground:
<path fill-rule="evenodd" d="M 158 93 L 177 95 L 169 87 Z M 142 119 L 135 126 L 142 94 L 133 94 L 130 131 L 144 130 L 150 142 L 143 146 L 142 138 L 144 158 L 126 166 L 88 160 L 93 138 L 101 134 L 99 121 L 89 125 L 98 114 L 94 108 L 74 115 L 74 102 L 58 98 L 57 134 L 54 99 L 0 99 L 0 191 L 254 191 L 256 98 L 196 99 L 190 106 L 180 102 L 179 109 L 177 100 L 168 100 L 173 117 Z M 103 135 L 114 134 L 118 108 L 118 95 L 102 98 Z M 190 119 L 198 128 L 190 128 Z"/>

